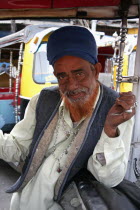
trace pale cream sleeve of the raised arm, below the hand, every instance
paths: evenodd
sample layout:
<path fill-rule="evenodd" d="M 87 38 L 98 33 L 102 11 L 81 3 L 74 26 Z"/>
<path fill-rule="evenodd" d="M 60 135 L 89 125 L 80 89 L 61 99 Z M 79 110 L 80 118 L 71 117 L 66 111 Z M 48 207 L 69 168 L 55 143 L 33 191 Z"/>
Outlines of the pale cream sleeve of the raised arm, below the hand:
<path fill-rule="evenodd" d="M 120 124 L 115 138 L 109 138 L 103 130 L 88 160 L 87 169 L 108 187 L 118 185 L 126 174 L 133 124 L 133 118 Z"/>

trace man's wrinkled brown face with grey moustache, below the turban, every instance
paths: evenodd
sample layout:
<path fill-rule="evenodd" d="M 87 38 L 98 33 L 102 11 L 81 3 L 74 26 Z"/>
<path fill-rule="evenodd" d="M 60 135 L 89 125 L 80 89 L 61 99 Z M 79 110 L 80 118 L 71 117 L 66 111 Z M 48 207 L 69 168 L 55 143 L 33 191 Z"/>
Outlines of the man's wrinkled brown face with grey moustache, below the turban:
<path fill-rule="evenodd" d="M 71 103 L 84 104 L 97 85 L 100 64 L 75 57 L 63 56 L 54 64 L 54 74 L 58 79 L 62 95 Z"/>

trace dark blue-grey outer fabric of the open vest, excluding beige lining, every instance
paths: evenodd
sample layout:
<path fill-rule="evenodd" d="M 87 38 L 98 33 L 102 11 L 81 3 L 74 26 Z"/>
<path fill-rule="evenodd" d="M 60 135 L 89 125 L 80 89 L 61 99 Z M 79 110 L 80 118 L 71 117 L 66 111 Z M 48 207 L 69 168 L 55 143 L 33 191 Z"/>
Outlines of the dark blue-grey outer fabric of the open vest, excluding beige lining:
<path fill-rule="evenodd" d="M 83 142 L 76 157 L 74 157 L 72 164 L 67 170 L 56 200 L 61 198 L 62 192 L 70 180 L 72 180 L 72 178 L 78 173 L 78 171 L 80 171 L 80 169 L 86 166 L 88 158 L 92 155 L 97 141 L 100 139 L 107 113 L 114 104 L 117 97 L 117 92 L 107 88 L 104 85 L 101 85 L 100 97 L 89 121 Z M 41 91 L 36 108 L 37 123 L 34 131 L 33 141 L 30 147 L 30 152 L 26 159 L 20 178 L 13 186 L 10 187 L 10 189 L 7 190 L 8 193 L 13 193 L 20 189 L 29 171 L 32 159 L 41 140 L 41 137 L 58 111 L 60 103 L 61 98 L 56 87 L 46 88 Z"/>

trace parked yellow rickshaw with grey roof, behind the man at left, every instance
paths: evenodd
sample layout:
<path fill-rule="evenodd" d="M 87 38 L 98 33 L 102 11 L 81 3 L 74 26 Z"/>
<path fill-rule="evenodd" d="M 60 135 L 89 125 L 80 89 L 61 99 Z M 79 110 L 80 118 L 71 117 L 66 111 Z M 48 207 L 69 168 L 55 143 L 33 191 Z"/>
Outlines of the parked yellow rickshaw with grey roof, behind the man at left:
<path fill-rule="evenodd" d="M 31 25 L 0 39 L 0 127 L 3 131 L 10 131 L 21 120 L 32 96 L 44 87 L 57 84 L 46 59 L 47 39 L 55 29 Z M 8 63 L 5 53 L 9 54 Z"/>

